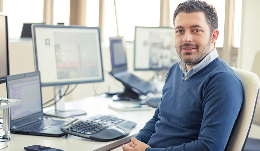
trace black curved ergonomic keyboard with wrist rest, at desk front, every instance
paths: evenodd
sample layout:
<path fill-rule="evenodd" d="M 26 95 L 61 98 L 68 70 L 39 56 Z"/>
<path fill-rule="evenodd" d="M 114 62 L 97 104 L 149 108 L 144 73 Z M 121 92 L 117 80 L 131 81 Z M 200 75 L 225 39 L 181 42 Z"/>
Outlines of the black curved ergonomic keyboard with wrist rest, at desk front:
<path fill-rule="evenodd" d="M 136 123 L 112 116 L 76 119 L 61 127 L 65 133 L 96 141 L 113 141 L 128 135 Z"/>

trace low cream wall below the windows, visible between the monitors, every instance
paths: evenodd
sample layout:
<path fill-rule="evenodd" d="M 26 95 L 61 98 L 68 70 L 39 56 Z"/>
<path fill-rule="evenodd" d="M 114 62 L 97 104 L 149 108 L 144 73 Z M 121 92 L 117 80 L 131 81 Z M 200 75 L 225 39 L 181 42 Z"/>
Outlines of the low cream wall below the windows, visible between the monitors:
<path fill-rule="evenodd" d="M 21 74 L 34 71 L 34 57 L 32 40 L 10 39 L 10 75 Z M 78 84 L 77 88 L 66 96 L 66 101 L 81 99 L 84 97 L 93 96 L 97 94 L 110 91 L 123 90 L 124 86 L 121 82 L 111 77 L 108 72 L 111 71 L 111 59 L 109 45 L 102 45 L 102 59 L 104 68 L 104 82 Z M 133 71 L 133 44 L 127 44 L 127 62 L 128 69 L 136 76 L 149 80 L 155 74 L 153 71 Z M 71 90 L 75 85 L 71 85 Z M 65 85 L 65 88 L 67 86 Z M 43 102 L 53 98 L 53 87 L 42 87 Z M 0 96 L 6 97 L 6 84 L 0 84 Z"/>

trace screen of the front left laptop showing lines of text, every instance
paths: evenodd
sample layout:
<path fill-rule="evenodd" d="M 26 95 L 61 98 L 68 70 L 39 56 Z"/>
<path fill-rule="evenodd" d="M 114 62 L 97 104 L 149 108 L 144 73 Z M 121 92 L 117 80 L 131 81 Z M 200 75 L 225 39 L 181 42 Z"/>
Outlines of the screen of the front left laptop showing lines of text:
<path fill-rule="evenodd" d="M 22 100 L 10 108 L 11 121 L 42 112 L 39 75 L 8 80 L 7 85 L 8 98 Z"/>

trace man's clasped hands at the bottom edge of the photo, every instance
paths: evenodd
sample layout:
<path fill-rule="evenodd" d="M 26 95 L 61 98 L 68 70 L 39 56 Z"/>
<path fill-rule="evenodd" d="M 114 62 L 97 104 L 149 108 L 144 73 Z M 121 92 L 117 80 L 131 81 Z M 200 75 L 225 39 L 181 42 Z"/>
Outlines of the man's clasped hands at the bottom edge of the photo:
<path fill-rule="evenodd" d="M 145 149 L 148 147 L 150 146 L 141 141 L 138 141 L 135 137 L 131 138 L 131 142 L 128 143 L 128 145 L 122 145 L 123 151 L 145 151 Z"/>

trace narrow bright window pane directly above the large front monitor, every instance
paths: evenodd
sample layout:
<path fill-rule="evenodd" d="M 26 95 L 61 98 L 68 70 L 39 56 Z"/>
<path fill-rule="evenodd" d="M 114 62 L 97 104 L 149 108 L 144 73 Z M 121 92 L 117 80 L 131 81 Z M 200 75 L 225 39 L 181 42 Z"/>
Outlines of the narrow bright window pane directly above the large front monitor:
<path fill-rule="evenodd" d="M 53 1 L 53 25 L 58 22 L 63 22 L 64 25 L 69 25 L 69 0 L 54 0 Z"/>

